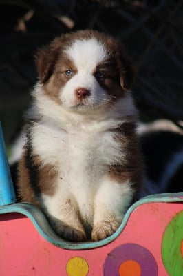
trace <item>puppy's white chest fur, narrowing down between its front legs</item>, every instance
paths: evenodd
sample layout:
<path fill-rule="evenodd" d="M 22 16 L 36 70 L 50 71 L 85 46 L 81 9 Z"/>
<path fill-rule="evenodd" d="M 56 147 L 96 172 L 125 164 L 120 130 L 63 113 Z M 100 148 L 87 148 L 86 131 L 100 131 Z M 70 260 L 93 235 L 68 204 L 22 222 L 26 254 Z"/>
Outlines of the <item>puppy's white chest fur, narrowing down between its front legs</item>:
<path fill-rule="evenodd" d="M 37 124 L 32 132 L 34 154 L 43 164 L 58 170 L 57 200 L 63 189 L 77 200 L 82 217 L 93 217 L 94 196 L 107 166 L 122 161 L 120 144 L 114 132 L 84 127 L 66 132 L 47 124 Z M 86 215 L 87 214 L 87 215 Z"/>

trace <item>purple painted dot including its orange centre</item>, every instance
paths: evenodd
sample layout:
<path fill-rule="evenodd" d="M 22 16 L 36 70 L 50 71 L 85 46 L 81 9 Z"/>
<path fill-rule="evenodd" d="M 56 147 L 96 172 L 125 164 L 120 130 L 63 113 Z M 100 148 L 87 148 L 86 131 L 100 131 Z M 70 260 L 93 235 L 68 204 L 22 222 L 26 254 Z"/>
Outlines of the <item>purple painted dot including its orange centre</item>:
<path fill-rule="evenodd" d="M 104 276 L 158 276 L 152 253 L 138 244 L 122 244 L 112 250 L 104 264 Z"/>

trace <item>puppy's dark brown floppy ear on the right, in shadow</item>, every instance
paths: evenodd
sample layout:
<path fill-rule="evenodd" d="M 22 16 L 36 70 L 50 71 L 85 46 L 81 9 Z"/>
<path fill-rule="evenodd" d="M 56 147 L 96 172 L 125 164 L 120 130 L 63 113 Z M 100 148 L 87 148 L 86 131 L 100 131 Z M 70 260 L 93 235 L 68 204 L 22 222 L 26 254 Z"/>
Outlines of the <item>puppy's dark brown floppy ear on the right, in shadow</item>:
<path fill-rule="evenodd" d="M 118 47 L 117 63 L 120 71 L 120 85 L 123 90 L 127 91 L 136 77 L 136 69 L 124 48 L 120 44 Z"/>

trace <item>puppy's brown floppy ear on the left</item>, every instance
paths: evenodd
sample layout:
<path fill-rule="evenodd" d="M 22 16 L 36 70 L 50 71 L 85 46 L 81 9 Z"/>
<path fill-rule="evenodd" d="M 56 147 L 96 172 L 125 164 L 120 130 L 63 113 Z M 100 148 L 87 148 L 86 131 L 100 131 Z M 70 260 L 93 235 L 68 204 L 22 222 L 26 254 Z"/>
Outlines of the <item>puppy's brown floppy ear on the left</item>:
<path fill-rule="evenodd" d="M 40 48 L 35 55 L 35 63 L 41 83 L 45 83 L 54 71 L 56 59 L 60 52 L 60 43 L 54 39 L 49 46 Z"/>

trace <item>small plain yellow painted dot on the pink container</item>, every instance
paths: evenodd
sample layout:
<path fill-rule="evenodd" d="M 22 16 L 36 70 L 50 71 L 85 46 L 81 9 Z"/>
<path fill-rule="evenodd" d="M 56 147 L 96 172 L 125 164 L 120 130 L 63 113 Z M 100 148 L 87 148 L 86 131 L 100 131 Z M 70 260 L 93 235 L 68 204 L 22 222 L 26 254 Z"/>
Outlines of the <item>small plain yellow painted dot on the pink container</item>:
<path fill-rule="evenodd" d="M 87 276 L 88 264 L 81 257 L 74 257 L 67 262 L 66 271 L 68 276 Z"/>

